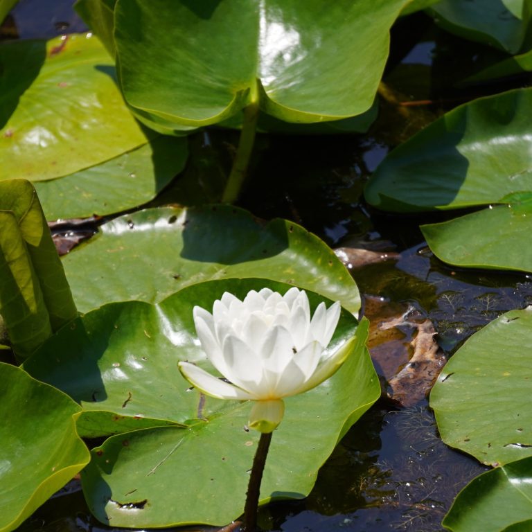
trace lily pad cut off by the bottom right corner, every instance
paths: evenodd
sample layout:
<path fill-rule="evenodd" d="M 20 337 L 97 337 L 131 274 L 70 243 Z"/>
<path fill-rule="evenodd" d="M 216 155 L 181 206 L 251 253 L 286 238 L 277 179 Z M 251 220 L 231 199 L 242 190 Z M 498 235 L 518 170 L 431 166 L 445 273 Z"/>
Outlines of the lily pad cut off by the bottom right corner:
<path fill-rule="evenodd" d="M 443 526 L 453 532 L 526 532 L 532 523 L 532 458 L 507 463 L 465 486 Z"/>

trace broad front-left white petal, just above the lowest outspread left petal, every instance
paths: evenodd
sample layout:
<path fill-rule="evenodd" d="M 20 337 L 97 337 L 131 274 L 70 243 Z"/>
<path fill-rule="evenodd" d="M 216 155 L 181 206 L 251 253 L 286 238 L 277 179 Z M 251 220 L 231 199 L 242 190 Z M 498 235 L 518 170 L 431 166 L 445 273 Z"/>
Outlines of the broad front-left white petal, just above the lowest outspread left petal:
<path fill-rule="evenodd" d="M 243 388 L 254 397 L 260 397 L 265 390 L 263 364 L 255 351 L 236 336 L 229 335 L 222 347 L 227 374 L 236 386 Z"/>

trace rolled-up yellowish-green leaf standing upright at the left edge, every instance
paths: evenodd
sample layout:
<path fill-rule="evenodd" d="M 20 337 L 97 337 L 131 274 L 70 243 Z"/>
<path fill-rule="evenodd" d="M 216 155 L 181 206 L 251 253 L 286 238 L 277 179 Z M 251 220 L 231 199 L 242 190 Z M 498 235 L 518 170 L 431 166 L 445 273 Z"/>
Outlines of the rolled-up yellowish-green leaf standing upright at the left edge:
<path fill-rule="evenodd" d="M 0 181 L 0 227 L 0 312 L 24 360 L 78 312 L 29 181 Z"/>

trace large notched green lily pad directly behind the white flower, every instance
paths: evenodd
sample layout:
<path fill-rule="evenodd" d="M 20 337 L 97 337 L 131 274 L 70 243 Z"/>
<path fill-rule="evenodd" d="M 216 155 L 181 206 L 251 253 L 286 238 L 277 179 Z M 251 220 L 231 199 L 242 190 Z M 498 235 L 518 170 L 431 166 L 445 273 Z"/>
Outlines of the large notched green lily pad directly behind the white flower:
<path fill-rule="evenodd" d="M 194 305 L 212 308 L 226 290 L 242 298 L 264 286 L 289 288 L 263 279 L 228 279 L 190 286 L 155 306 L 106 305 L 82 317 L 77 330 L 59 332 L 26 363 L 34 375 L 73 393 L 86 418 L 99 408 L 130 420 L 145 416 L 154 424 L 181 424 L 119 434 L 94 450 L 82 480 L 100 521 L 134 527 L 224 524 L 242 513 L 258 441 L 258 433 L 245 427 L 251 405 L 204 398 L 190 389 L 177 362 L 209 367 L 195 337 Z M 323 298 L 309 293 L 309 299 L 314 309 Z M 380 396 L 367 334 L 368 321 L 357 324 L 342 311 L 330 348 L 343 342 L 346 362 L 319 387 L 285 400 L 262 502 L 308 495 L 339 438 Z M 52 362 L 49 353 L 55 354 Z"/>

